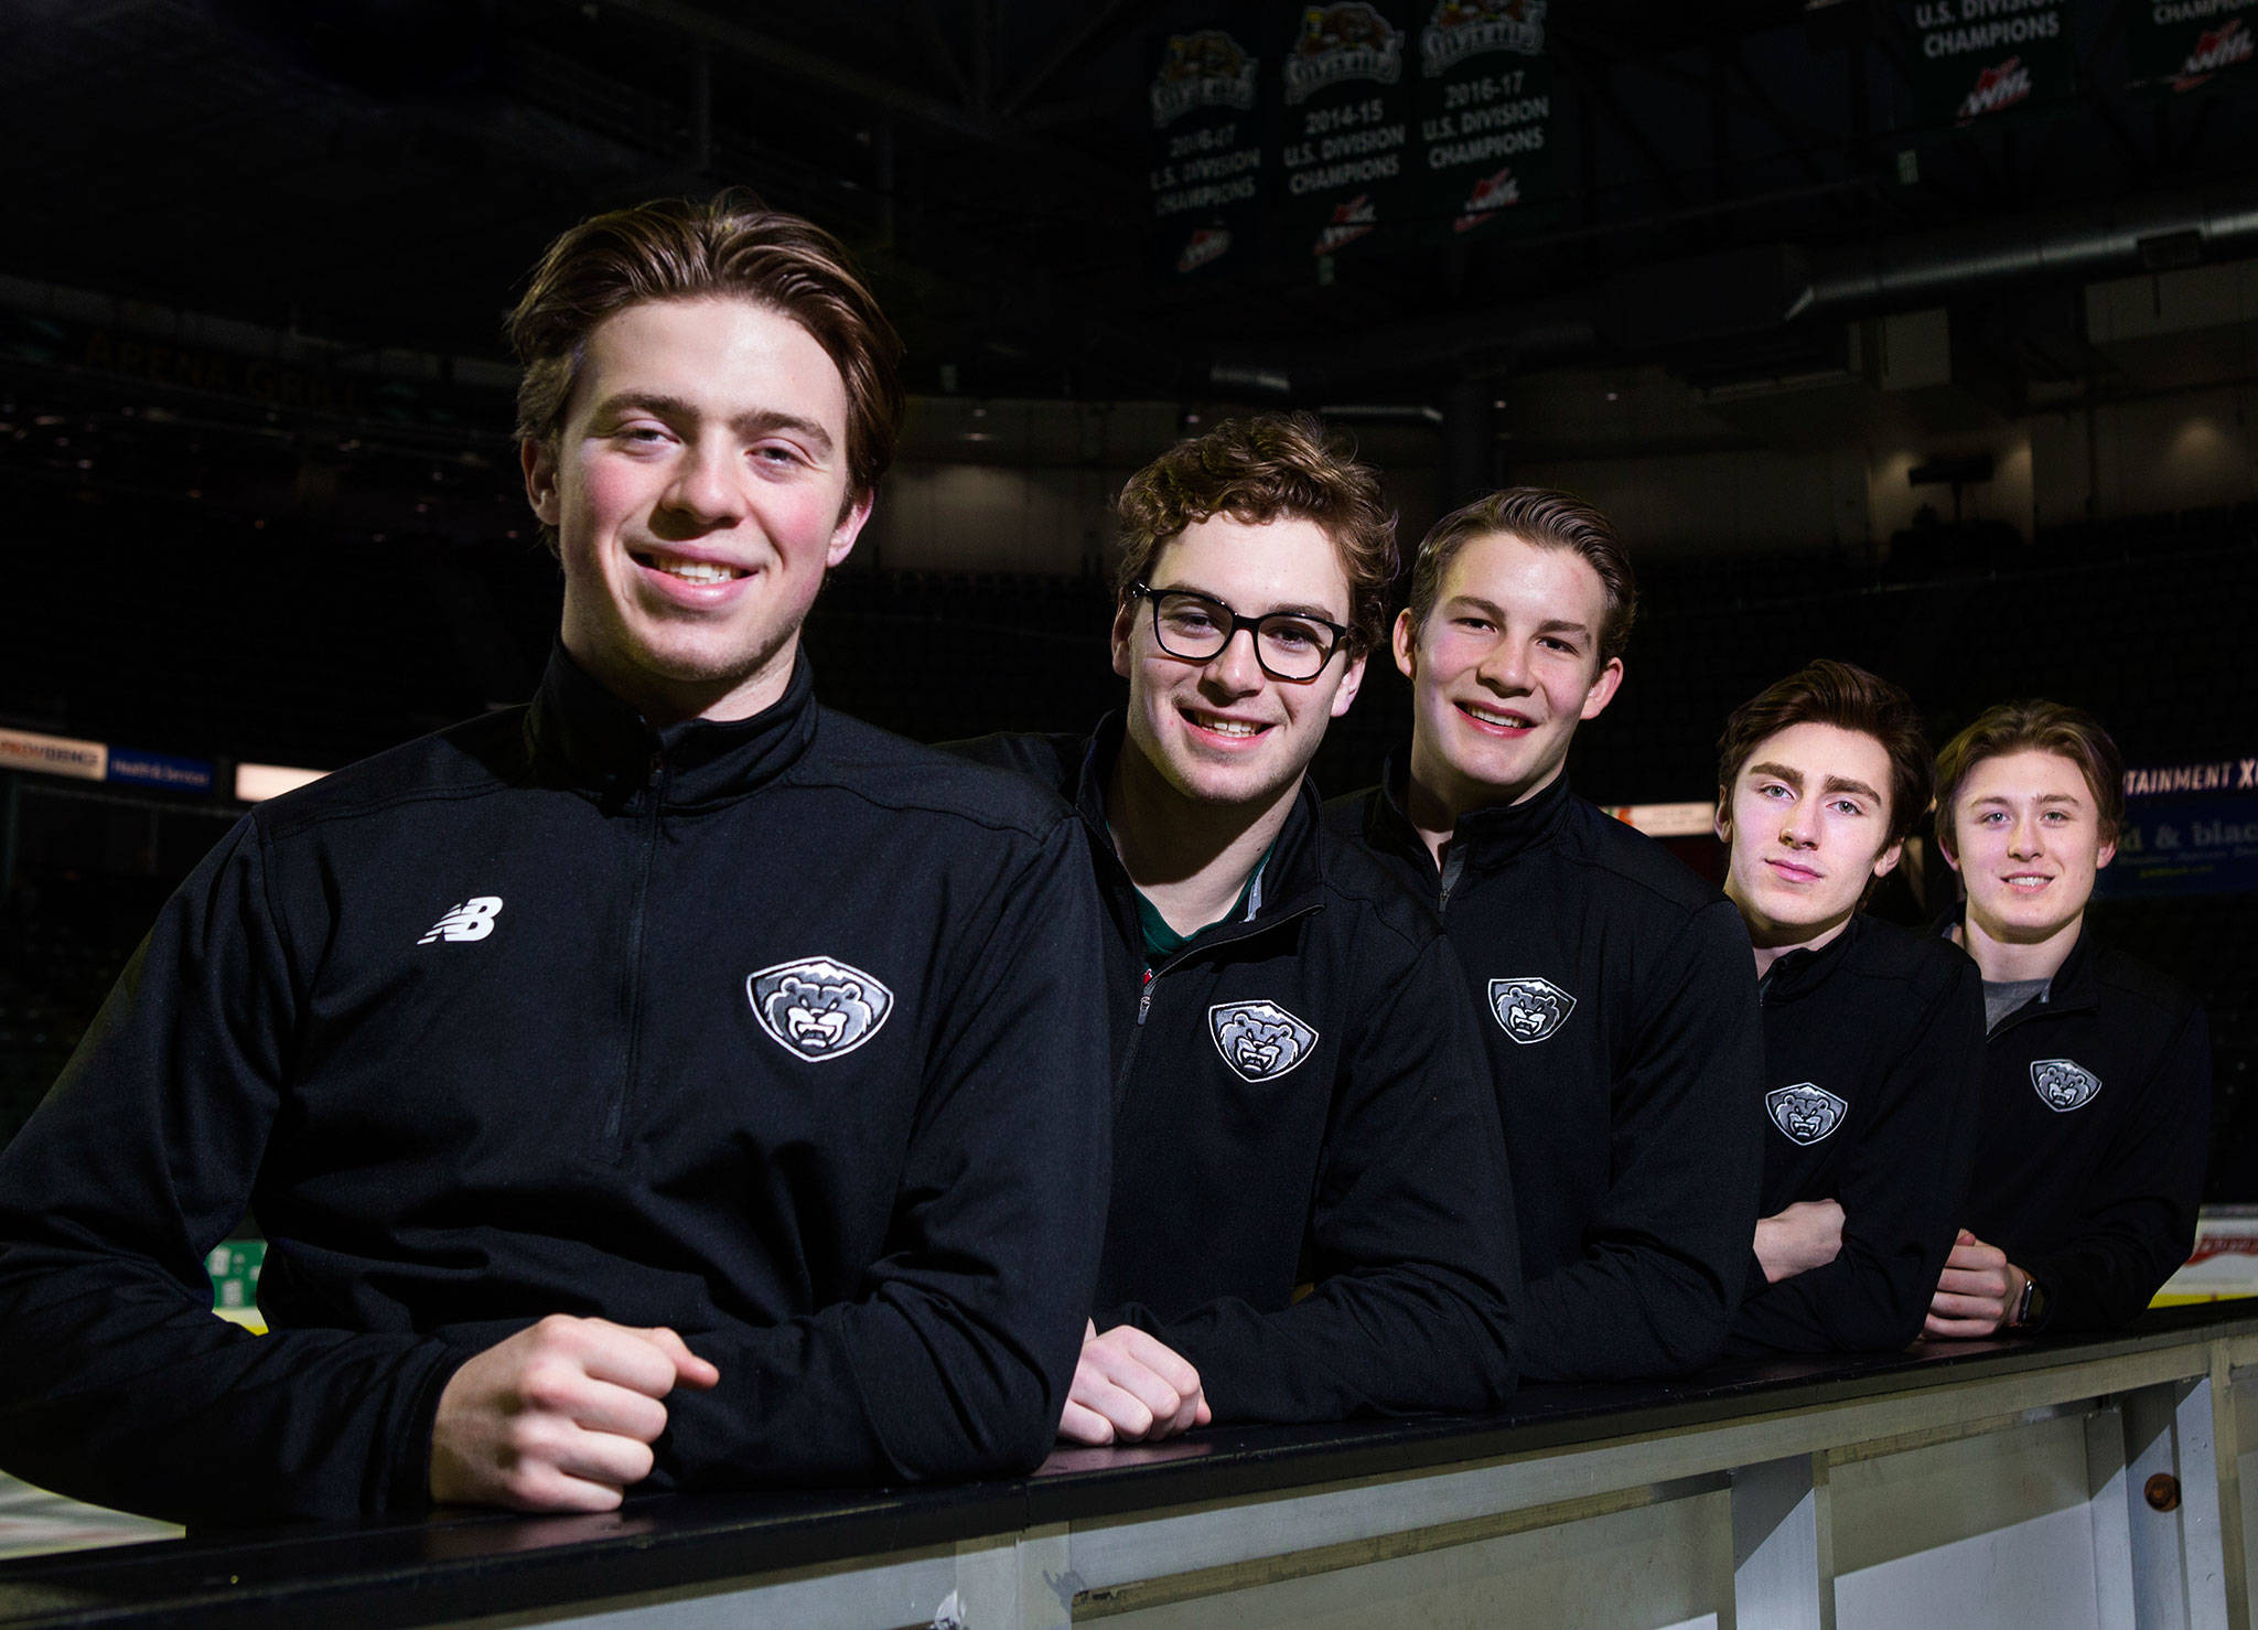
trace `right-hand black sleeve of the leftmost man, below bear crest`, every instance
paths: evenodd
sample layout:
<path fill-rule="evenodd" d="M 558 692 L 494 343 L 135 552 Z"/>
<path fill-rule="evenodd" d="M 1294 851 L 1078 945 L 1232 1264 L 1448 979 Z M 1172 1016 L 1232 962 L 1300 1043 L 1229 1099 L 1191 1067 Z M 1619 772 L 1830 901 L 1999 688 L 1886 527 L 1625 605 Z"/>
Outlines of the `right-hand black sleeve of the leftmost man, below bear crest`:
<path fill-rule="evenodd" d="M 653 1488 L 872 1483 L 1034 1467 L 1097 1285 L 1109 1185 L 1097 890 L 1079 822 L 996 880 L 953 946 L 883 1255 L 854 1300 L 691 1337 Z"/>

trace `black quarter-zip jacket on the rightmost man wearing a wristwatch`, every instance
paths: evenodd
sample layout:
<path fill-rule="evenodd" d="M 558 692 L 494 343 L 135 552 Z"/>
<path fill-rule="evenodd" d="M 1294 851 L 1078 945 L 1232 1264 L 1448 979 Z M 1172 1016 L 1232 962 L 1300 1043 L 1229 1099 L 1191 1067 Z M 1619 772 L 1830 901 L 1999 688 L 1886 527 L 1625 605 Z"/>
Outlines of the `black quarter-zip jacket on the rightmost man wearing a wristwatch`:
<path fill-rule="evenodd" d="M 2039 1282 L 2043 1330 L 2123 1325 L 2195 1248 L 2208 1154 L 2202 1005 L 2084 923 L 1985 1043 L 1962 1221 Z"/>

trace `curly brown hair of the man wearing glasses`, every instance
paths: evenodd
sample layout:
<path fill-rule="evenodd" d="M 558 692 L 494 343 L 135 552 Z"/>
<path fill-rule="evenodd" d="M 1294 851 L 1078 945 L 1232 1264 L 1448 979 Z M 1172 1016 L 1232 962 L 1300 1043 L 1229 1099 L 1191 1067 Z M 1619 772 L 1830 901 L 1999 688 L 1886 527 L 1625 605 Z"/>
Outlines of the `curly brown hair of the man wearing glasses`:
<path fill-rule="evenodd" d="M 1312 522 L 1348 576 L 1348 641 L 1357 652 L 1380 643 L 1395 582 L 1395 515 L 1380 499 L 1380 474 L 1310 413 L 1224 420 L 1176 442 L 1129 476 L 1113 512 L 1122 524 L 1115 601 L 1129 598 L 1185 526 L 1217 515 L 1249 526 Z"/>

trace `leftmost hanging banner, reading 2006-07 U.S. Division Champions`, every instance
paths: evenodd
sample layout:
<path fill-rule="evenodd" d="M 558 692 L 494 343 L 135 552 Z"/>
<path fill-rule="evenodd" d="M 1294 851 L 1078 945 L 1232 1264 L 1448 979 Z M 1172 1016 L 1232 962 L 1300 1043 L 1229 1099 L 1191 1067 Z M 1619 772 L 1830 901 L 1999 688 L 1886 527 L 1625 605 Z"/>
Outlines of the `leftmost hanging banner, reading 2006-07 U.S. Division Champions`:
<path fill-rule="evenodd" d="M 1226 29 L 1158 41 L 1152 108 L 1152 253 L 1161 280 L 1253 266 L 1262 235 L 1260 59 Z"/>

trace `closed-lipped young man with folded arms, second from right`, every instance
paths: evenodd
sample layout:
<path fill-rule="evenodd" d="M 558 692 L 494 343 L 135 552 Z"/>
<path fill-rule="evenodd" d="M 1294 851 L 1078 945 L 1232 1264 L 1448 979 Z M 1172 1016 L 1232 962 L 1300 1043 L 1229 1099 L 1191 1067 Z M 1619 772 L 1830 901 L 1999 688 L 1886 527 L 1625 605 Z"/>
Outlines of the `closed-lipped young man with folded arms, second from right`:
<path fill-rule="evenodd" d="M 1867 917 L 1928 806 L 1913 698 L 1813 661 L 1716 750 L 1725 896 L 1763 1000 L 1763 1217 L 1730 1352 L 1903 1348 L 1953 1244 L 1976 1149 L 1983 993 L 1951 946 Z"/>

